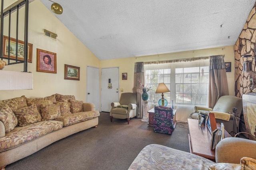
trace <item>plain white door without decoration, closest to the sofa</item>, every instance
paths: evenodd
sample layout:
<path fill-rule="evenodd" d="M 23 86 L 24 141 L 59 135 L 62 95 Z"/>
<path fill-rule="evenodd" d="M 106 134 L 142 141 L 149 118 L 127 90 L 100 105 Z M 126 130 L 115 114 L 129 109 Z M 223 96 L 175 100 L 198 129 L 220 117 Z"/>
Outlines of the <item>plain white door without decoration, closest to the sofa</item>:
<path fill-rule="evenodd" d="M 100 111 L 100 69 L 87 66 L 87 102 Z"/>

